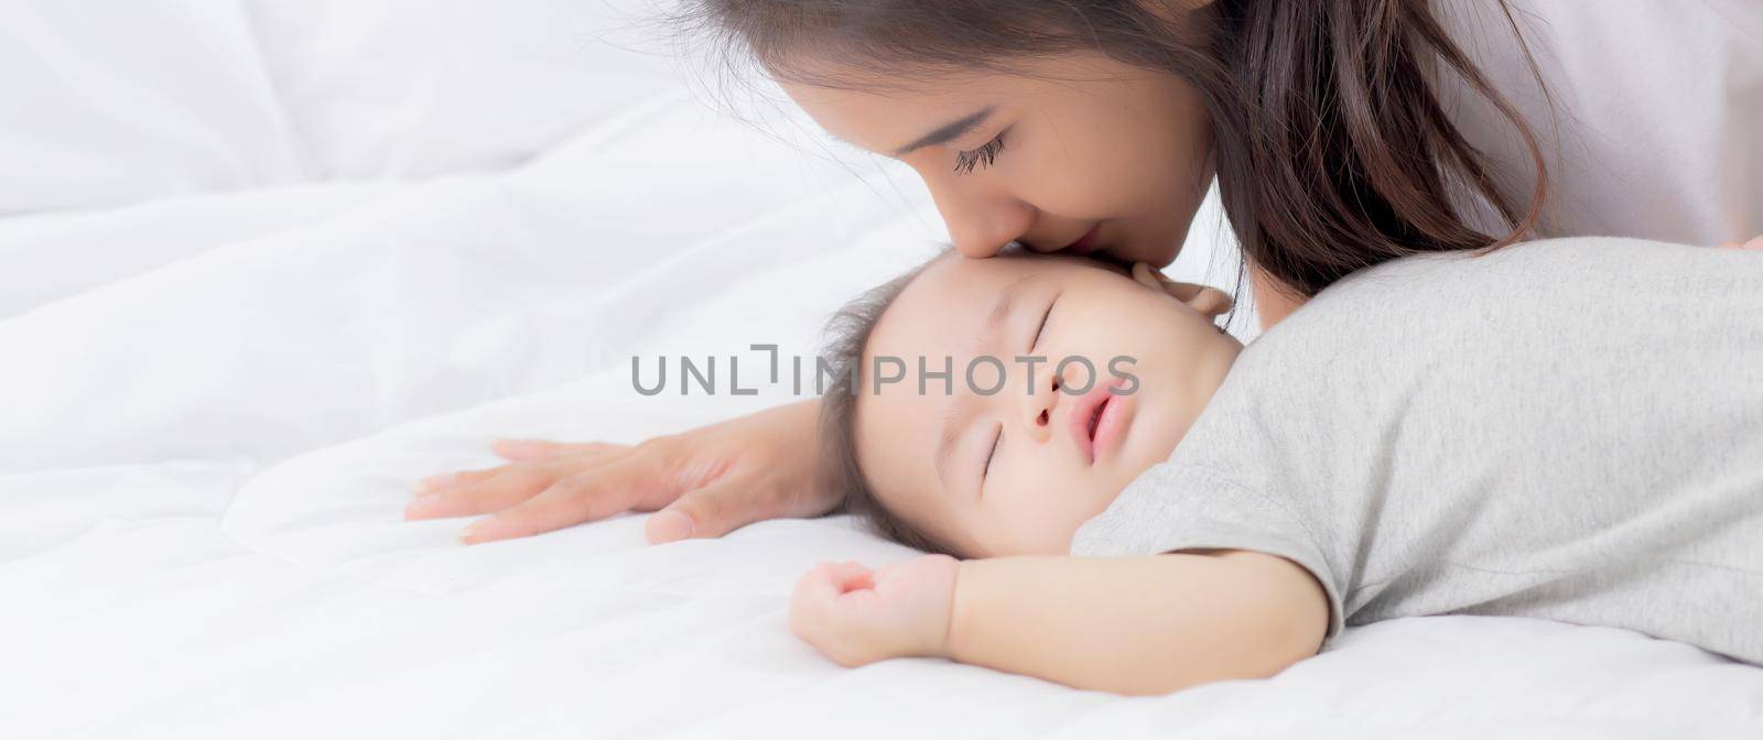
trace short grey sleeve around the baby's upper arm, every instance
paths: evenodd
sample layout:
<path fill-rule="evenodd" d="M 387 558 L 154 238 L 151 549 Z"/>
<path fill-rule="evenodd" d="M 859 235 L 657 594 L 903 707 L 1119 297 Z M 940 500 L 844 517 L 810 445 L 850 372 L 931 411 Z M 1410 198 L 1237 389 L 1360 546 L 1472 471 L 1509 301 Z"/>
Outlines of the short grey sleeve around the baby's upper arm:
<path fill-rule="evenodd" d="M 1340 634 L 1343 583 L 1328 567 L 1315 532 L 1291 502 L 1195 467 L 1162 463 L 1139 476 L 1107 511 L 1084 522 L 1072 555 L 1162 555 L 1176 550 L 1253 550 L 1296 562 L 1328 597 L 1328 638 Z"/>

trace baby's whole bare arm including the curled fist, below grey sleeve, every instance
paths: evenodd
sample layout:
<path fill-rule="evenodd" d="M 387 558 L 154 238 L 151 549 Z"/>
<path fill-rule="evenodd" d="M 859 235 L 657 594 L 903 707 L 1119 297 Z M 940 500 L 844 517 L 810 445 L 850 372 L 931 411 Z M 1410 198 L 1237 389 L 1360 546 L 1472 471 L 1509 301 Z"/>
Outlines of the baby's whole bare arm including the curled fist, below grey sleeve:
<path fill-rule="evenodd" d="M 938 655 L 1121 694 L 1269 677 L 1315 654 L 1328 617 L 1305 569 L 1252 551 L 820 566 L 790 604 L 846 666 Z"/>

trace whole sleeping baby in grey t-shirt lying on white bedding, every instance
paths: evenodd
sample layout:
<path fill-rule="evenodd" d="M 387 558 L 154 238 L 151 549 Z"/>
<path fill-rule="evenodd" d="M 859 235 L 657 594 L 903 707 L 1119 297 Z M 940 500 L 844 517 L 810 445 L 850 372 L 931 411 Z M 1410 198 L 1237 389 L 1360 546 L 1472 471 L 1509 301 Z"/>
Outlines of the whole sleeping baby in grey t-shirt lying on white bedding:
<path fill-rule="evenodd" d="M 1128 694 L 1446 613 L 1763 662 L 1763 255 L 1409 257 L 1246 349 L 1215 326 L 1227 305 L 1010 254 L 933 259 L 841 312 L 832 485 L 947 555 L 815 567 L 795 634 L 846 666 Z"/>

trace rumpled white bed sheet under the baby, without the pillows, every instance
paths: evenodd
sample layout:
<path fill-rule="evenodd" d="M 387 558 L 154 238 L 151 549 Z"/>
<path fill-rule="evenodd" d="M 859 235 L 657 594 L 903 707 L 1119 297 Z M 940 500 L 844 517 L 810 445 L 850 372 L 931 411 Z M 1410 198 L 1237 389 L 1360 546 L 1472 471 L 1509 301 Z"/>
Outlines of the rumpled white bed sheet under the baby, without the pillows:
<path fill-rule="evenodd" d="M 793 580 L 910 555 L 848 520 L 476 548 L 400 522 L 492 435 L 779 402 L 640 396 L 629 358 L 811 354 L 933 250 L 910 178 L 783 130 L 659 90 L 504 174 L 0 222 L 0 735 L 1763 736 L 1763 670 L 1613 629 L 1398 620 L 1273 680 L 1116 698 L 818 657 Z"/>

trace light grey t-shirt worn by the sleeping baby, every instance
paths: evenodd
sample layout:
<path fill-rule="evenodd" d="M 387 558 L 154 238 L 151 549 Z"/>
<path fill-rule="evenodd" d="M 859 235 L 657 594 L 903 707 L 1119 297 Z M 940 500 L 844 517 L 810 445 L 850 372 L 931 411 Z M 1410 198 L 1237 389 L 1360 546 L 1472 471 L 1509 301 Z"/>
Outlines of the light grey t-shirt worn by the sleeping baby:
<path fill-rule="evenodd" d="M 1763 662 L 1763 254 L 1578 238 L 1342 280 L 1072 543 L 1195 548 L 1306 567 L 1329 636 L 1514 615 Z"/>

